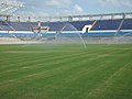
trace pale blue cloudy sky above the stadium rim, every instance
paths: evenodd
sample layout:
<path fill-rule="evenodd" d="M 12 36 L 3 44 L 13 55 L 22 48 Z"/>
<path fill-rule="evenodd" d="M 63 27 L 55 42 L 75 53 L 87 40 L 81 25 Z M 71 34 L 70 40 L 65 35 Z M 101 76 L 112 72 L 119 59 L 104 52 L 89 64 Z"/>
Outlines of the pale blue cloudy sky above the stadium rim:
<path fill-rule="evenodd" d="M 73 15 L 132 12 L 132 0 L 16 0 L 24 2 L 19 14 Z"/>

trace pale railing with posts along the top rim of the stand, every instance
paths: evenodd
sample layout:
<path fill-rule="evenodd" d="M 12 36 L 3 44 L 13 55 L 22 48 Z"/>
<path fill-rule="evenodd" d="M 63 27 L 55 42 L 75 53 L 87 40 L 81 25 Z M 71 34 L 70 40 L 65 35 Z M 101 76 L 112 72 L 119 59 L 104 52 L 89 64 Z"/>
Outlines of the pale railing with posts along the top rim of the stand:
<path fill-rule="evenodd" d="M 53 22 L 53 21 L 85 21 L 85 20 L 114 20 L 114 19 L 132 19 L 132 12 L 124 13 L 107 13 L 107 14 L 87 14 L 87 15 L 62 15 L 62 16 L 44 16 L 44 15 L 6 15 L 0 14 L 0 16 L 6 18 L 8 21 L 18 21 L 18 22 Z M 11 20 L 12 19 L 12 20 Z"/>

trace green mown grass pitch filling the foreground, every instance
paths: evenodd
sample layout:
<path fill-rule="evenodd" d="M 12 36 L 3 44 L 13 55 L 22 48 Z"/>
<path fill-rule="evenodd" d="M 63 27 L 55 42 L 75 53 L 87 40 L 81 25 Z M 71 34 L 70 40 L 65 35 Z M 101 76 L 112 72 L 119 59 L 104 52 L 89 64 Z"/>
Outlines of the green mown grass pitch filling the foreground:
<path fill-rule="evenodd" d="M 132 45 L 0 45 L 0 99 L 132 99 Z"/>

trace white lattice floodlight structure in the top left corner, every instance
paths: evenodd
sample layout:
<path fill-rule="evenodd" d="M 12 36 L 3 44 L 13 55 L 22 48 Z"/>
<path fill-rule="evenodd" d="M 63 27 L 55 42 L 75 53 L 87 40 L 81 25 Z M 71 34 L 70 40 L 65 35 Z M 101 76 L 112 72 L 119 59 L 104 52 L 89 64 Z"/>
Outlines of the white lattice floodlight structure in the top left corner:
<path fill-rule="evenodd" d="M 11 15 L 22 7 L 24 7 L 24 3 L 20 1 L 0 0 L 0 15 Z"/>

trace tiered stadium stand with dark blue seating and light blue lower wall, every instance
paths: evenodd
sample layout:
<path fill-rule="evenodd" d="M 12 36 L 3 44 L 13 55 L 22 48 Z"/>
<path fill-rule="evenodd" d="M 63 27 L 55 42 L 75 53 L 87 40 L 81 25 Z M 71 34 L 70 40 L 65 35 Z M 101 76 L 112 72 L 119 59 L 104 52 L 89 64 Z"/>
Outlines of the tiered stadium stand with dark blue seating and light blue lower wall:
<path fill-rule="evenodd" d="M 79 20 L 79 21 L 55 21 L 55 22 L 21 22 L 21 21 L 0 21 L 0 36 L 35 36 L 40 31 L 42 36 L 52 35 L 52 33 L 63 33 L 61 35 L 72 35 L 82 33 L 86 25 L 91 26 L 82 35 L 89 36 L 111 36 L 111 35 L 132 35 L 132 19 L 98 19 L 98 20 Z M 48 31 L 41 31 L 41 29 Z M 37 31 L 34 31 L 36 29 Z M 87 28 L 88 30 L 88 28 Z M 10 33 L 11 32 L 11 33 Z M 75 34 L 74 34 L 75 33 Z"/>

